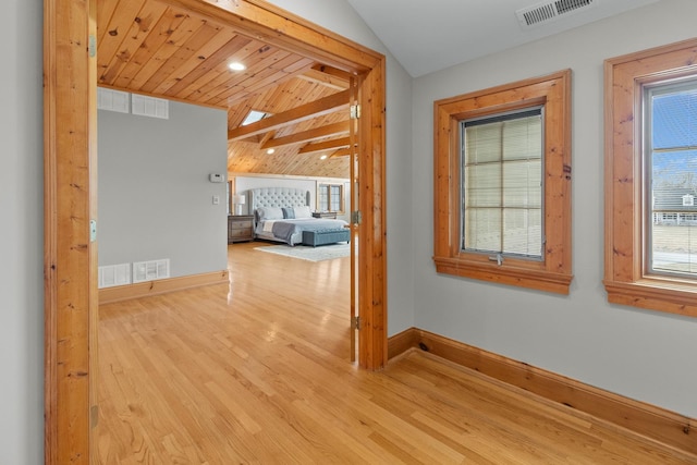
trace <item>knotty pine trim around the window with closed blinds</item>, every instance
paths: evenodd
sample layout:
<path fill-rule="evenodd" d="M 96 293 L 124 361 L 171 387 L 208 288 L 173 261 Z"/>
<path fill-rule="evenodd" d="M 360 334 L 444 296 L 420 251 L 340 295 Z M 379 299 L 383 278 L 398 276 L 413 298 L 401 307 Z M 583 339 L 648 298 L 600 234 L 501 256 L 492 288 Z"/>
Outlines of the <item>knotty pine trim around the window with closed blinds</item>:
<path fill-rule="evenodd" d="M 461 250 L 460 121 L 545 106 L 545 236 L 542 260 Z M 435 107 L 435 254 L 439 273 L 568 294 L 571 244 L 571 70 L 461 95 Z"/>

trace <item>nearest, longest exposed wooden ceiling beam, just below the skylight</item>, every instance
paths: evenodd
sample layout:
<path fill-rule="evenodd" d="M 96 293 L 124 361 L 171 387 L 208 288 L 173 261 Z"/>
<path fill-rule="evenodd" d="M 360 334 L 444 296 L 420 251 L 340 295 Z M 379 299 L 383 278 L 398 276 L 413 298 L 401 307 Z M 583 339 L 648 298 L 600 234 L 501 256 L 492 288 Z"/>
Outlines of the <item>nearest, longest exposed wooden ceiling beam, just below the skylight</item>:
<path fill-rule="evenodd" d="M 265 118 L 256 123 L 228 131 L 228 140 L 240 140 L 268 131 L 278 130 L 289 124 L 307 121 L 313 118 L 339 111 L 348 107 L 350 91 L 332 94 L 329 97 L 301 105 L 282 113 Z"/>

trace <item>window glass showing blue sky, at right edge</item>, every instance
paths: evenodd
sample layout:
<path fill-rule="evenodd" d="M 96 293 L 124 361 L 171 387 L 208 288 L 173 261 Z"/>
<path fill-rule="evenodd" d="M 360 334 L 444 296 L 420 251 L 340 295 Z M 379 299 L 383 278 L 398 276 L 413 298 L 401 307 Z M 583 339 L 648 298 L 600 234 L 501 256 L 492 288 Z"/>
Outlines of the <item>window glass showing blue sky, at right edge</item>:
<path fill-rule="evenodd" d="M 647 95 L 647 269 L 697 278 L 697 82 Z"/>

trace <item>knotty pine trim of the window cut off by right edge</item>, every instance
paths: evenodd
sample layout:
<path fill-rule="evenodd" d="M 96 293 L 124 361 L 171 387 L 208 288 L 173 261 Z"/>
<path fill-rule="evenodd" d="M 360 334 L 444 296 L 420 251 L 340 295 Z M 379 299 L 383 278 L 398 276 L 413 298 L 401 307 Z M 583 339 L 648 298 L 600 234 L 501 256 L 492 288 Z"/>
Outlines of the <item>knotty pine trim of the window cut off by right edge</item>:
<path fill-rule="evenodd" d="M 697 282 L 644 271 L 641 91 L 697 74 L 697 39 L 606 60 L 606 269 L 608 302 L 697 317 Z"/>

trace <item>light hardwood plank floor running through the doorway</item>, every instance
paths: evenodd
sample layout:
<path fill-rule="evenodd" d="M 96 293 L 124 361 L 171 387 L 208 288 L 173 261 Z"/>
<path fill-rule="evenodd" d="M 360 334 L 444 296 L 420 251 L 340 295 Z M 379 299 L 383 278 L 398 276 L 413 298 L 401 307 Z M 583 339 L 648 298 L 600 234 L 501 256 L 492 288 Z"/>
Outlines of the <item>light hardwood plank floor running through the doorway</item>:
<path fill-rule="evenodd" d="M 258 245 L 230 286 L 100 308 L 100 463 L 697 463 L 420 351 L 358 370 L 348 259 Z"/>

